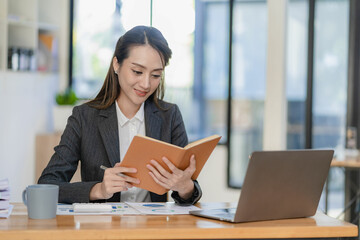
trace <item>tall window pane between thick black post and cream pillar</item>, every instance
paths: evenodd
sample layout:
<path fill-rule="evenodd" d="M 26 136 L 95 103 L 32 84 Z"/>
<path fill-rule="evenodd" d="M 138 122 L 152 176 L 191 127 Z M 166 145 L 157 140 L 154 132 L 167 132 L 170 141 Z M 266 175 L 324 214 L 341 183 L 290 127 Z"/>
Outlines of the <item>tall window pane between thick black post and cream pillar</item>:
<path fill-rule="evenodd" d="M 229 186 L 241 187 L 249 155 L 262 149 L 266 82 L 265 1 L 235 1 Z"/>

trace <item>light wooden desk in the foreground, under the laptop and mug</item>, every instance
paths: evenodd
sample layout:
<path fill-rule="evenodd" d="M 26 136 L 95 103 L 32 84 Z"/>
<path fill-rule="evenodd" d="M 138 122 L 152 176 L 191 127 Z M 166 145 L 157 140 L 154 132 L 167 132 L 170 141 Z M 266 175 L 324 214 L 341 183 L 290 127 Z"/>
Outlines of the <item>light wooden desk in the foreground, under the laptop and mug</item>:
<path fill-rule="evenodd" d="M 234 203 L 199 204 L 224 208 Z M 28 219 L 26 208 L 15 204 L 8 219 L 0 219 L 0 239 L 254 239 L 357 238 L 356 225 L 318 212 L 311 218 L 251 223 L 226 223 L 191 215 L 173 216 L 57 216 Z"/>

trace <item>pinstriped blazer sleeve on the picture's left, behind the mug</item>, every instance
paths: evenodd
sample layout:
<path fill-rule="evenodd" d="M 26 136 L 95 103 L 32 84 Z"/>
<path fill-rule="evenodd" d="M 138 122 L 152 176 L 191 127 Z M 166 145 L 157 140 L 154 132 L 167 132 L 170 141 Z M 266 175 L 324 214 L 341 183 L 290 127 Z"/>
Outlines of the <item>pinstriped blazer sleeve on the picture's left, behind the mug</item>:
<path fill-rule="evenodd" d="M 59 202 L 89 202 L 90 190 L 98 183 L 70 183 L 80 160 L 82 124 L 79 107 L 74 107 L 55 153 L 42 172 L 39 184 L 55 184 L 59 186 Z"/>

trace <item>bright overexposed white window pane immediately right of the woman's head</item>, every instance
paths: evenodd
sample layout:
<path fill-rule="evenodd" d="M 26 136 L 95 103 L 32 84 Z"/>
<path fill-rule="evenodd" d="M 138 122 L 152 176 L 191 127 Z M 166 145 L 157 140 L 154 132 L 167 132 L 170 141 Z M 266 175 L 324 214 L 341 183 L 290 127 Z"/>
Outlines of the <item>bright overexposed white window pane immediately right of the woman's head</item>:
<path fill-rule="evenodd" d="M 190 141 L 202 137 L 194 94 L 195 5 L 193 0 L 153 0 L 152 26 L 167 39 L 173 52 L 165 73 L 165 97 L 182 113 Z M 186 16 L 186 17 L 184 17 Z"/>

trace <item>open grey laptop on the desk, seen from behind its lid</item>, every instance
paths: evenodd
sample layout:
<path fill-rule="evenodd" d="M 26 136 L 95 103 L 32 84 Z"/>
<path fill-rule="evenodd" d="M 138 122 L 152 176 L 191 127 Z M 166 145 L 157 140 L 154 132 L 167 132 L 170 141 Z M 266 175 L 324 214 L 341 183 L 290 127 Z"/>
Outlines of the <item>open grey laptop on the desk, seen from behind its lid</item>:
<path fill-rule="evenodd" d="M 333 154 L 313 149 L 253 152 L 237 208 L 190 214 L 233 223 L 313 216 Z"/>

